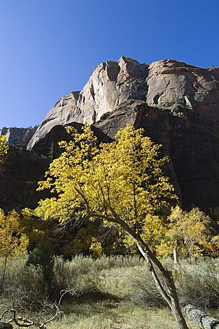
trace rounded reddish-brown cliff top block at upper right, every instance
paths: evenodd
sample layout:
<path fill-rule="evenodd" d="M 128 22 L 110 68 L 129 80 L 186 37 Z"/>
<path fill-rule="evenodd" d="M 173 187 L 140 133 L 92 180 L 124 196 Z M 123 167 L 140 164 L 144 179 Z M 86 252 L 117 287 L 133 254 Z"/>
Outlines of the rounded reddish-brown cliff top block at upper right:
<path fill-rule="evenodd" d="M 219 69 L 202 69 L 175 60 L 154 62 L 148 69 L 147 103 L 181 106 L 202 117 L 219 119 Z"/>

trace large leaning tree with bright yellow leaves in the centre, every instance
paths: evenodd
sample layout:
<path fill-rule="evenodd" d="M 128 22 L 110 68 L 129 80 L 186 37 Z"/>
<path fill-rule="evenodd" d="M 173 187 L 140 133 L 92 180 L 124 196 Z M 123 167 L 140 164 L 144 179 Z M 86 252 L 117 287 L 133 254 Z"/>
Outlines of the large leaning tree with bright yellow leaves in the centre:
<path fill-rule="evenodd" d="M 159 156 L 160 145 L 143 136 L 143 130 L 127 126 L 120 130 L 117 142 L 97 146 L 91 127 L 82 134 L 72 127 L 73 141 L 62 141 L 65 149 L 51 162 L 47 179 L 39 189 L 50 188 L 56 197 L 41 201 L 36 214 L 61 222 L 89 217 L 105 225 L 117 226 L 135 241 L 148 262 L 156 287 L 170 306 L 178 327 L 187 328 L 181 313 L 172 273 L 154 256 L 147 240 L 149 215 L 169 206 L 174 188 L 162 168 L 168 158 Z M 57 196 L 58 195 L 58 196 Z M 150 240 L 150 239 L 149 239 Z"/>

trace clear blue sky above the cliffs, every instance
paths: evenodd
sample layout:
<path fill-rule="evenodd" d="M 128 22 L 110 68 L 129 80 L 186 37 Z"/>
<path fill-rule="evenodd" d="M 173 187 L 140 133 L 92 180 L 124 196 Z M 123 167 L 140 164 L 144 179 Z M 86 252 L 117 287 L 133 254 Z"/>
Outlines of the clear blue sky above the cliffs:
<path fill-rule="evenodd" d="M 40 123 L 121 56 L 219 66 L 219 0 L 0 0 L 0 127 Z"/>

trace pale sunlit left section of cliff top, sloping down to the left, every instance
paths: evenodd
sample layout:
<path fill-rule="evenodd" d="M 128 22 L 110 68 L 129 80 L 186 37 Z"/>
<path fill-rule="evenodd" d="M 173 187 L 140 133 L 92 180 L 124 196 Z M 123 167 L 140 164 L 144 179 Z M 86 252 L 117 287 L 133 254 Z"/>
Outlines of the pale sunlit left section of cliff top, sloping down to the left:
<path fill-rule="evenodd" d="M 51 108 L 27 149 L 32 149 L 55 125 L 95 123 L 127 99 L 145 100 L 147 74 L 146 64 L 125 57 L 98 65 L 80 92 L 67 94 Z"/>

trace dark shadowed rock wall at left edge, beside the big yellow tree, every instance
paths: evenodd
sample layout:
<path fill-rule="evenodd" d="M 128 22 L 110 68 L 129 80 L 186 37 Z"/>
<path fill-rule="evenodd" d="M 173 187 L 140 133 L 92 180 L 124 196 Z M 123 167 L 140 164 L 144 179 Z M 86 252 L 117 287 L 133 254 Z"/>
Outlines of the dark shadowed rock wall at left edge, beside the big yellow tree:
<path fill-rule="evenodd" d="M 47 195 L 45 192 L 36 192 L 36 188 L 48 164 L 46 158 L 11 146 L 0 162 L 0 208 L 36 207 L 38 200 Z"/>

